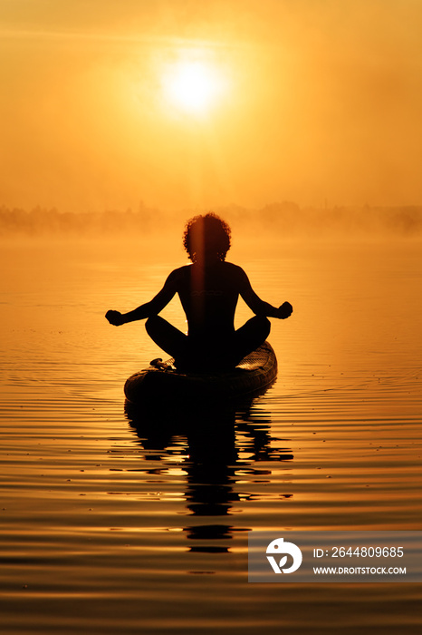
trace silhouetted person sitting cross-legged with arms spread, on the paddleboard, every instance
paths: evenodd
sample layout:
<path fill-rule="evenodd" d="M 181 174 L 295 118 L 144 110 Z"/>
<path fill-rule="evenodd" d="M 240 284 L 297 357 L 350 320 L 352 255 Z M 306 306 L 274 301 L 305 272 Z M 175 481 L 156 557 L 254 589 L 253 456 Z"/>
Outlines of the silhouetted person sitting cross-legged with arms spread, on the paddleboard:
<path fill-rule="evenodd" d="M 268 337 L 271 325 L 267 318 L 289 318 L 293 307 L 289 302 L 279 308 L 264 302 L 245 271 L 225 262 L 230 233 L 227 223 L 214 213 L 188 220 L 183 244 L 192 264 L 172 271 L 150 302 L 129 313 L 108 311 L 110 324 L 119 327 L 148 318 L 145 326 L 149 336 L 175 358 L 180 371 L 234 368 Z M 158 316 L 176 293 L 187 316 L 187 335 Z M 255 315 L 235 330 L 239 295 Z"/>

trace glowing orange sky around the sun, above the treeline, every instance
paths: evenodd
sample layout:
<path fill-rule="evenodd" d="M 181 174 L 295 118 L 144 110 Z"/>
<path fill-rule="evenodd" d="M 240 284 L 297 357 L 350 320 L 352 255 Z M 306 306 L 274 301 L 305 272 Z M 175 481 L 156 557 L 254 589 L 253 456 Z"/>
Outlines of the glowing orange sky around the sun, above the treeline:
<path fill-rule="evenodd" d="M 0 0 L 0 205 L 422 203 L 419 0 Z M 205 112 L 165 91 L 207 64 Z"/>

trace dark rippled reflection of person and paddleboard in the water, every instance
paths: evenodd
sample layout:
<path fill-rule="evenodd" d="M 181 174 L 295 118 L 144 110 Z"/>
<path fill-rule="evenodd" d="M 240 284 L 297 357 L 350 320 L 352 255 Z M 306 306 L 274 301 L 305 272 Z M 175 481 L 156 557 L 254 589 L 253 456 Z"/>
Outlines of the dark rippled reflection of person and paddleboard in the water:
<path fill-rule="evenodd" d="M 233 532 L 248 531 L 236 528 L 228 517 L 233 503 L 253 498 L 249 493 L 240 497 L 235 484 L 240 478 L 245 479 L 245 474 L 261 479 L 271 474 L 269 470 L 256 468 L 258 462 L 293 459 L 288 448 L 271 446 L 270 415 L 254 411 L 252 404 L 253 398 L 232 405 L 192 404 L 177 408 L 126 404 L 129 424 L 139 436 L 146 458 L 157 461 L 177 458 L 177 466 L 183 467 L 187 474 L 187 510 L 203 522 L 190 523 L 184 531 L 189 540 L 213 542 L 193 545 L 191 552 L 229 551 L 228 546 L 214 541 L 227 541 Z M 181 452 L 180 445 L 175 448 L 175 437 L 182 437 L 185 452 Z M 153 470 L 154 474 L 157 472 Z"/>

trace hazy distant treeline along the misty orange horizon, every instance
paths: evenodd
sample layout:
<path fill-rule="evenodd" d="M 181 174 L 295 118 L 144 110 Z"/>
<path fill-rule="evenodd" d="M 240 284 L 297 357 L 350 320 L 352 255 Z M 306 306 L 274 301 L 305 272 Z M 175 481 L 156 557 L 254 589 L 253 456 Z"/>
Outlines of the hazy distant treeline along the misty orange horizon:
<path fill-rule="evenodd" d="M 149 209 L 111 210 L 103 212 L 60 212 L 0 208 L 0 236 L 118 234 L 148 235 L 154 231 L 181 230 L 185 220 L 198 210 L 177 212 Z M 307 234 L 312 237 L 335 234 L 388 233 L 399 236 L 422 234 L 422 206 L 396 208 L 335 207 L 331 209 L 300 208 L 293 202 L 272 203 L 261 210 L 237 206 L 215 209 L 236 231 L 270 232 L 283 236 Z"/>

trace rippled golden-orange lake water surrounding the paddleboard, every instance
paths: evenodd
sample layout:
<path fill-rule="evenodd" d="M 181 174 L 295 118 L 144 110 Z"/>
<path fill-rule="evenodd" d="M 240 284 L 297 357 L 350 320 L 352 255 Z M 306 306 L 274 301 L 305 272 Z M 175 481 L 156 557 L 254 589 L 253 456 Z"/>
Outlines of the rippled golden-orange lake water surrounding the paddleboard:
<path fill-rule="evenodd" d="M 420 585 L 247 582 L 248 530 L 421 529 L 420 245 L 231 259 L 293 303 L 277 382 L 236 412 L 158 404 L 139 423 L 122 386 L 158 349 L 103 315 L 148 300 L 181 252 L 3 244 L 5 634 L 420 632 Z M 176 300 L 163 315 L 184 327 Z"/>

